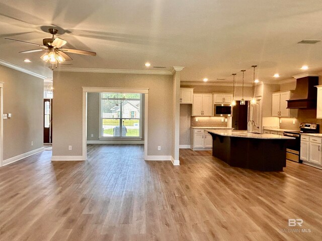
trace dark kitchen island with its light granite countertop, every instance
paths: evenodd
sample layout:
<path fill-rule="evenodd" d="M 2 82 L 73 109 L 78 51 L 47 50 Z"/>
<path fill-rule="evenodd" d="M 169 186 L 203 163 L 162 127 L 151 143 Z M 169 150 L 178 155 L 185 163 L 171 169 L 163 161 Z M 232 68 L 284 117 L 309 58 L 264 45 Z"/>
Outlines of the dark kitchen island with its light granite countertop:
<path fill-rule="evenodd" d="M 283 171 L 286 142 L 294 139 L 246 131 L 206 130 L 212 136 L 212 156 L 230 166 L 259 171 Z"/>

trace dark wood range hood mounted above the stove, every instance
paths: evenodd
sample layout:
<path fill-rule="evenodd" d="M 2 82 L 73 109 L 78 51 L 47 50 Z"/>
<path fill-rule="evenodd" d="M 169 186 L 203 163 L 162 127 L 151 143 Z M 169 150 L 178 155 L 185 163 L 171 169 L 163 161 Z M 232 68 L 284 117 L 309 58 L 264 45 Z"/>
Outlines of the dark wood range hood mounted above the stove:
<path fill-rule="evenodd" d="M 316 108 L 317 89 L 314 86 L 318 85 L 318 76 L 306 73 L 293 77 L 296 78 L 296 88 L 291 91 L 287 108 Z"/>

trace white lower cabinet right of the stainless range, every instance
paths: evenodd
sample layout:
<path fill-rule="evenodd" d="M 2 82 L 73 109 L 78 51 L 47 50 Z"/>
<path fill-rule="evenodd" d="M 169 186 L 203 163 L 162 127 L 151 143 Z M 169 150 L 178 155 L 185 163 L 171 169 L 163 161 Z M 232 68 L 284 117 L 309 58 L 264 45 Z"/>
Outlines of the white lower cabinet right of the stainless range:
<path fill-rule="evenodd" d="M 305 162 L 322 165 L 322 138 L 301 135 L 300 159 Z"/>

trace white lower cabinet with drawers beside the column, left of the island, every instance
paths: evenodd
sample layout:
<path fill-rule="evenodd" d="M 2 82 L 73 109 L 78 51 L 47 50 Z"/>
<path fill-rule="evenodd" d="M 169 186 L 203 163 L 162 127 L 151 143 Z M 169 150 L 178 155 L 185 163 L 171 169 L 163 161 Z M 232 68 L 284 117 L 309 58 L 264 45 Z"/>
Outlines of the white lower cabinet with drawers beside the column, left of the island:
<path fill-rule="evenodd" d="M 204 129 L 191 129 L 191 149 L 194 151 L 212 150 L 212 137 Z"/>

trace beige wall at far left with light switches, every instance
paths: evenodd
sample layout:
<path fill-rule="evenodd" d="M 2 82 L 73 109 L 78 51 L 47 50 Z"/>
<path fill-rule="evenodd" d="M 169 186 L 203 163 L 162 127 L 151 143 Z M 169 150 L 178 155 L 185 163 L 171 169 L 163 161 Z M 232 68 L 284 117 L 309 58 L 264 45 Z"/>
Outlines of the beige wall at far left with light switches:
<path fill-rule="evenodd" d="M 43 147 L 43 79 L 0 65 L 4 82 L 4 160 Z M 31 146 L 33 142 L 33 146 Z"/>

